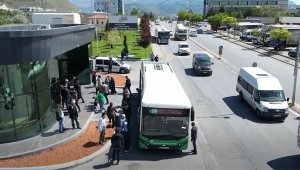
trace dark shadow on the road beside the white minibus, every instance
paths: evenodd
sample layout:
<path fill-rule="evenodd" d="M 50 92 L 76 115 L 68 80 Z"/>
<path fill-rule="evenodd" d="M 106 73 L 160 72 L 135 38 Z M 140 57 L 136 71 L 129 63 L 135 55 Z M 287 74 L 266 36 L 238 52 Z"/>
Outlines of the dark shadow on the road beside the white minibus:
<path fill-rule="evenodd" d="M 273 119 L 258 119 L 255 115 L 255 111 L 251 108 L 249 104 L 245 101 L 240 101 L 239 96 L 229 96 L 223 98 L 225 104 L 231 109 L 231 111 L 243 118 L 248 119 L 252 122 L 263 123 L 263 124 L 273 124 L 273 123 L 283 123 L 281 120 L 273 120 Z"/>

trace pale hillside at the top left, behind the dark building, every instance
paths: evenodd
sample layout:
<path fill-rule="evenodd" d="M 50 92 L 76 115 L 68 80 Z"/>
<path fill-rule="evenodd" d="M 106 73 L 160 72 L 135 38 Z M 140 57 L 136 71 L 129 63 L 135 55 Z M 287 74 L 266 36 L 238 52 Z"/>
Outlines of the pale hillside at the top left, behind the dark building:
<path fill-rule="evenodd" d="M 0 5 L 5 4 L 9 8 L 19 9 L 20 7 L 42 7 L 56 9 L 57 12 L 73 11 L 78 12 L 79 8 L 70 3 L 69 0 L 0 0 Z"/>

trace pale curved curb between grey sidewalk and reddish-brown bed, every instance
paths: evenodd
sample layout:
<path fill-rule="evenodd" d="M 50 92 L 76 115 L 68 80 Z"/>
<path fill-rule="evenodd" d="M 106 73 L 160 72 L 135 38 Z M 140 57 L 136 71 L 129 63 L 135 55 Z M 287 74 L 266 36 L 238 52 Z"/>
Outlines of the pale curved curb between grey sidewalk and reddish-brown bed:
<path fill-rule="evenodd" d="M 5 156 L 5 157 L 0 157 L 0 160 L 5 160 L 5 159 L 11 159 L 11 158 L 16 158 L 16 157 L 26 156 L 26 155 L 30 155 L 30 154 L 33 154 L 33 153 L 39 153 L 39 152 L 45 151 L 47 149 L 56 147 L 58 145 L 64 144 L 66 142 L 69 142 L 70 140 L 78 137 L 79 135 L 81 135 L 82 133 L 85 132 L 85 130 L 88 127 L 89 122 L 91 121 L 91 119 L 92 119 L 92 117 L 93 117 L 94 114 L 95 113 L 92 112 L 92 114 L 89 116 L 89 118 L 87 119 L 85 125 L 83 126 L 83 128 L 81 130 L 79 130 L 78 132 L 74 133 L 73 135 L 67 137 L 64 140 L 61 140 L 61 141 L 59 141 L 57 143 L 54 143 L 52 145 L 48 145 L 48 146 L 45 146 L 45 147 L 34 149 L 34 150 L 31 150 L 31 151 L 28 151 L 28 152 L 23 152 L 23 153 L 19 153 L 19 154 L 14 154 L 14 155 L 8 155 L 8 156 Z"/>

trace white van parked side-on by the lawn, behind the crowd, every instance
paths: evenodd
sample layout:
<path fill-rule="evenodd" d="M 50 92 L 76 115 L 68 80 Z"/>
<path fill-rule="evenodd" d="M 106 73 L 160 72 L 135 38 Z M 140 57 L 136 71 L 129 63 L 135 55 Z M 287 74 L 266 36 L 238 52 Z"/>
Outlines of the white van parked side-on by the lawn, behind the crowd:
<path fill-rule="evenodd" d="M 112 58 L 113 61 L 112 72 L 125 74 L 131 71 L 129 64 L 125 64 L 120 59 L 113 57 L 97 57 L 95 59 L 95 69 L 103 72 L 108 71 L 108 61 L 110 58 Z"/>

